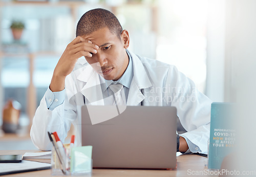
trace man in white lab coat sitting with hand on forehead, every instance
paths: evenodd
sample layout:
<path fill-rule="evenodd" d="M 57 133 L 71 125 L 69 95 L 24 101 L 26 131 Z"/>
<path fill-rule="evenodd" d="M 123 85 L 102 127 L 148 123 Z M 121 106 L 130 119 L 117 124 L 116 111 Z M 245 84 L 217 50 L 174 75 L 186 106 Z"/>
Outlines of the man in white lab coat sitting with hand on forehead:
<path fill-rule="evenodd" d="M 177 107 L 187 131 L 180 135 L 179 151 L 207 153 L 211 101 L 193 81 L 173 65 L 127 50 L 129 33 L 110 11 L 94 9 L 85 13 L 78 21 L 76 36 L 60 57 L 36 110 L 30 135 L 37 148 L 51 149 L 47 131 L 57 131 L 64 141 L 71 123 L 79 145 L 80 106 L 112 105 L 113 100 L 99 99 L 99 95 L 105 98 L 114 92 L 113 85 L 121 85 L 126 105 Z"/>

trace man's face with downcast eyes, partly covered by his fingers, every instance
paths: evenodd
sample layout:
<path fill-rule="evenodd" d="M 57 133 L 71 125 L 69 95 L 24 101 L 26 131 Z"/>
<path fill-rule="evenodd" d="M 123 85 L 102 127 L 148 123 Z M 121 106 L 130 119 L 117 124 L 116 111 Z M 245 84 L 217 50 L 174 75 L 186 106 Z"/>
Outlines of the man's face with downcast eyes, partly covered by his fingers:
<path fill-rule="evenodd" d="M 129 63 L 125 49 L 129 47 L 129 34 L 124 30 L 121 39 L 112 34 L 109 28 L 102 28 L 91 34 L 82 36 L 92 41 L 99 49 L 86 60 L 93 69 L 106 80 L 118 80 Z"/>

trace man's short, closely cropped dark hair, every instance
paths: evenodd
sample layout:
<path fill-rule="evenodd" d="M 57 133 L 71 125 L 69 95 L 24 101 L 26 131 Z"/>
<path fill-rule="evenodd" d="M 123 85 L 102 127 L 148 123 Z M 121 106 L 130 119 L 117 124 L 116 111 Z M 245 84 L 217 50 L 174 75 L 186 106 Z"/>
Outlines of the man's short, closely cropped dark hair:
<path fill-rule="evenodd" d="M 77 23 L 76 37 L 91 34 L 99 29 L 108 27 L 112 34 L 119 38 L 123 31 L 117 17 L 105 9 L 93 9 L 82 15 Z"/>

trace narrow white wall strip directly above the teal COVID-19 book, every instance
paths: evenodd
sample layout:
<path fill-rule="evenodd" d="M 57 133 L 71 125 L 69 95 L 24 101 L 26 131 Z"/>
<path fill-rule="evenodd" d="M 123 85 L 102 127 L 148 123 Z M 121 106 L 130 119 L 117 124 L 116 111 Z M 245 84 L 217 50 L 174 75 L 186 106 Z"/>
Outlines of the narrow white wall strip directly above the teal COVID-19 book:
<path fill-rule="evenodd" d="M 205 94 L 214 102 L 224 101 L 225 11 L 225 1 L 208 0 Z"/>

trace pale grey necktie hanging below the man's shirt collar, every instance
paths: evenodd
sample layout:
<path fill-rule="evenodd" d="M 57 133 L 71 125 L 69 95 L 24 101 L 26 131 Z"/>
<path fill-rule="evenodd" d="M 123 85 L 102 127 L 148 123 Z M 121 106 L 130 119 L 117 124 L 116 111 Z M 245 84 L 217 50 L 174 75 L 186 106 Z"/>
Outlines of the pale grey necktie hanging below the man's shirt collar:
<path fill-rule="evenodd" d="M 111 84 L 109 87 L 114 92 L 114 95 L 115 95 L 113 105 L 117 105 L 117 106 L 126 105 L 123 85 L 122 84 L 115 84 L 115 85 Z"/>

